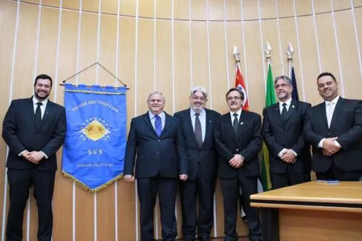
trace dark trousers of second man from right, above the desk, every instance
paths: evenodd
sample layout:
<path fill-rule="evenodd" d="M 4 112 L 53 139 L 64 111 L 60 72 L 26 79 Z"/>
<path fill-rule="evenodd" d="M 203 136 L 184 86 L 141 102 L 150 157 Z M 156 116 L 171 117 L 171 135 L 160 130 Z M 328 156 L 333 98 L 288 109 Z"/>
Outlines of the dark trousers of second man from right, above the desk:
<path fill-rule="evenodd" d="M 292 166 L 288 165 L 285 170 L 285 173 L 283 174 L 270 173 L 270 181 L 272 182 L 272 189 L 289 187 L 292 185 L 297 185 L 299 183 L 309 182 L 310 172 L 309 173 L 293 172 Z"/>

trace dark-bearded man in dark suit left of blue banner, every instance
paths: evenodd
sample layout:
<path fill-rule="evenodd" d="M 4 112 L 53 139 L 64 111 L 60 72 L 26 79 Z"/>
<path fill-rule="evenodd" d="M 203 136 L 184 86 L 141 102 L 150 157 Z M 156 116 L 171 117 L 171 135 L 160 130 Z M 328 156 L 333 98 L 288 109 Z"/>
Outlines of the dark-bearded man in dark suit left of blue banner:
<path fill-rule="evenodd" d="M 9 146 L 10 207 L 6 240 L 22 240 L 23 213 L 29 189 L 37 200 L 39 241 L 52 239 L 52 195 L 57 159 L 55 153 L 66 137 L 66 111 L 48 96 L 52 78 L 35 78 L 32 98 L 12 101 L 3 121 L 3 139 Z"/>

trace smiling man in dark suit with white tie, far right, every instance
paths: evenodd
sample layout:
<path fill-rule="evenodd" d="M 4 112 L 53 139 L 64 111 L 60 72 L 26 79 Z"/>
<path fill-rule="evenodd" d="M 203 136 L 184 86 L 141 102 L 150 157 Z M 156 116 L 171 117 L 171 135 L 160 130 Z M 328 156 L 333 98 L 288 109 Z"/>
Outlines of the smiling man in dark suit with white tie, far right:
<path fill-rule="evenodd" d="M 316 178 L 357 181 L 362 175 L 362 101 L 342 98 L 333 74 L 319 74 L 323 103 L 310 109 L 304 138 L 313 147 Z"/>

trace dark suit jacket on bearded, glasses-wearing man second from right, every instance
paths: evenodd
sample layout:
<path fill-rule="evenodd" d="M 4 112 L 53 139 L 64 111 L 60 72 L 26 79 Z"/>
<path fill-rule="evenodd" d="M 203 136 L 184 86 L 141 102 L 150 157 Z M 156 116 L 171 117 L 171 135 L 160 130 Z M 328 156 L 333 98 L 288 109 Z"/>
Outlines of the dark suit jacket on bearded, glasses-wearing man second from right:
<path fill-rule="evenodd" d="M 310 145 L 303 139 L 303 125 L 308 109 L 310 103 L 292 100 L 285 123 L 281 120 L 279 103 L 263 110 L 263 138 L 269 149 L 271 173 L 283 174 L 288 165 L 293 172 L 310 172 Z M 292 149 L 298 155 L 296 163 L 288 164 L 279 158 L 278 154 L 283 148 Z"/>

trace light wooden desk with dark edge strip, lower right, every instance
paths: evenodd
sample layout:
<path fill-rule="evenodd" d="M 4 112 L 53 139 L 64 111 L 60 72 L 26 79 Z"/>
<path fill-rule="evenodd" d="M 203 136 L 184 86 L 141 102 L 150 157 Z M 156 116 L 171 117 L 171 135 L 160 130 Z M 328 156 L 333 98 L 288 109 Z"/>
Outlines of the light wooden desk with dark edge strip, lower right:
<path fill-rule="evenodd" d="M 362 182 L 306 182 L 250 196 L 264 241 L 362 240 Z"/>

